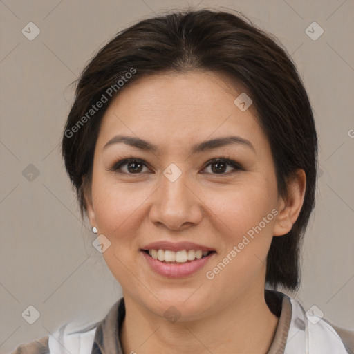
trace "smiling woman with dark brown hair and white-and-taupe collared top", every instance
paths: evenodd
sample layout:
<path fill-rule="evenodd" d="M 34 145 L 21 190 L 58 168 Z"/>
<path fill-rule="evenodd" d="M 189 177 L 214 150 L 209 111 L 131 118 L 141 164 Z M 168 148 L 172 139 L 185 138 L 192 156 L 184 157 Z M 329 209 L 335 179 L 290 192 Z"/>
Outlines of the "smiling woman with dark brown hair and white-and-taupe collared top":
<path fill-rule="evenodd" d="M 124 296 L 14 353 L 353 353 L 319 308 L 265 290 L 299 286 L 317 165 L 304 85 L 269 35 L 209 10 L 140 21 L 84 69 L 62 147 Z"/>

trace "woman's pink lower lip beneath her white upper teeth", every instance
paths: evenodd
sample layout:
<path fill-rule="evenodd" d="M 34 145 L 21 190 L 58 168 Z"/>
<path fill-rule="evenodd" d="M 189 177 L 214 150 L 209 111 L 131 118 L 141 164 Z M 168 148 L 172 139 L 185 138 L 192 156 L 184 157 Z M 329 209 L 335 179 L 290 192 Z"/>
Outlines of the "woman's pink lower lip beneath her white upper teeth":
<path fill-rule="evenodd" d="M 143 257 L 147 260 L 150 267 L 158 274 L 169 278 L 182 278 L 194 274 L 197 270 L 203 268 L 205 264 L 214 256 L 215 253 L 209 254 L 207 257 L 195 259 L 187 263 L 162 263 L 158 259 L 153 259 L 149 254 L 142 252 Z"/>

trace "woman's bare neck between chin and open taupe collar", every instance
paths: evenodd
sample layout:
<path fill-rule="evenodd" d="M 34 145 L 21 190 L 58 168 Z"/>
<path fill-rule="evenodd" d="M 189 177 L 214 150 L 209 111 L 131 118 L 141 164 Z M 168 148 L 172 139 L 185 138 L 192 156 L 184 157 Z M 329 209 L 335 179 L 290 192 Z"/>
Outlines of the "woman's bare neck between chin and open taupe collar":
<path fill-rule="evenodd" d="M 203 319 L 178 319 L 174 323 L 124 295 L 126 317 L 120 332 L 123 352 L 265 354 L 279 319 L 265 303 L 264 288 L 254 290 L 239 294 Z"/>

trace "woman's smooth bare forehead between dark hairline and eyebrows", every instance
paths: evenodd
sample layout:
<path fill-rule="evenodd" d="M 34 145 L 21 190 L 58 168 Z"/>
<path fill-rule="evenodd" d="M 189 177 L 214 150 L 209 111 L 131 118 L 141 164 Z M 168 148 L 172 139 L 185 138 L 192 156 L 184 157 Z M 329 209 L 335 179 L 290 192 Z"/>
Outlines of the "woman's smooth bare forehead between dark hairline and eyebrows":
<path fill-rule="evenodd" d="M 186 147 L 234 133 L 257 146 L 265 136 L 254 106 L 242 111 L 234 103 L 241 94 L 245 94 L 241 85 L 219 73 L 194 71 L 140 77 L 111 102 L 97 145 L 102 147 L 118 133 L 166 147 Z"/>

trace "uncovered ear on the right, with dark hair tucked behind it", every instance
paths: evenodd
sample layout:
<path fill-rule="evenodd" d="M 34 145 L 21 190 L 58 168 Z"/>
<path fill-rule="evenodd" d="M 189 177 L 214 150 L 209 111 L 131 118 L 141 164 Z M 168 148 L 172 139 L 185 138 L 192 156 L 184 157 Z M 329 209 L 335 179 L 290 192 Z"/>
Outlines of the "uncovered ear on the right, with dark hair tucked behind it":
<path fill-rule="evenodd" d="M 273 236 L 287 234 L 297 221 L 304 203 L 306 191 L 306 174 L 303 169 L 297 169 L 287 183 L 288 196 L 279 198 L 277 220 L 274 224 Z"/>

